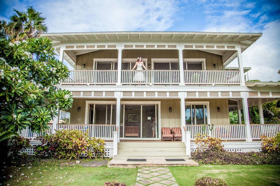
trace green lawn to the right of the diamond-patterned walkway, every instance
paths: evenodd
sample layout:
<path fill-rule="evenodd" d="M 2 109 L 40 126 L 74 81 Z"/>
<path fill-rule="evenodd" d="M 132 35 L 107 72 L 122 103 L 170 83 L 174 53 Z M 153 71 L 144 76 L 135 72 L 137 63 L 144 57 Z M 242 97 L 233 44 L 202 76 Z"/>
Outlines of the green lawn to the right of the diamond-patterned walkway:
<path fill-rule="evenodd" d="M 201 165 L 199 167 L 169 167 L 181 186 L 193 186 L 197 178 L 211 176 L 224 179 L 229 186 L 280 185 L 279 165 Z"/>

